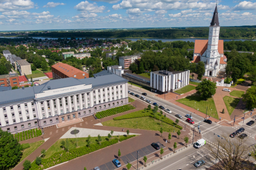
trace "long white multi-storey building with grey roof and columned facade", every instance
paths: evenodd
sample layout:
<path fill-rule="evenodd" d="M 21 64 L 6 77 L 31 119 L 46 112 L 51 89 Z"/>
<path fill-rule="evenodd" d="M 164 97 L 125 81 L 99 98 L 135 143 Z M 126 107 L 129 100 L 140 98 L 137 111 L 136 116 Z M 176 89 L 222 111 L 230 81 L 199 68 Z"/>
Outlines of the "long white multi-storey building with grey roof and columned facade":
<path fill-rule="evenodd" d="M 0 128 L 14 134 L 128 104 L 128 81 L 115 74 L 66 78 L 0 96 Z"/>

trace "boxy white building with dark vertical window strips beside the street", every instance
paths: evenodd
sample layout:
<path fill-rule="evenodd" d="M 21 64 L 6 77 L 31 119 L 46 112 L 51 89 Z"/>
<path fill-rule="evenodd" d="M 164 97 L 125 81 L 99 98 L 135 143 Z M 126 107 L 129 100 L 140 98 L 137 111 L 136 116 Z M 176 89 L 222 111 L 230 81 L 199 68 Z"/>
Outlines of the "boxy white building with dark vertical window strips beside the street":
<path fill-rule="evenodd" d="M 150 73 L 152 90 L 168 93 L 178 90 L 189 84 L 189 70 L 185 71 L 155 71 Z"/>

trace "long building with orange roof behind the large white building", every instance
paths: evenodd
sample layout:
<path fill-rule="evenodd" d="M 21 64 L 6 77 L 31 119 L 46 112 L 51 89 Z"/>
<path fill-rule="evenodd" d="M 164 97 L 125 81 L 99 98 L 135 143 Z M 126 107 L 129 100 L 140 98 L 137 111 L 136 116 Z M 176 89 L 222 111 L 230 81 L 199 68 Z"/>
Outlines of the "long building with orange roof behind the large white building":
<path fill-rule="evenodd" d="M 53 79 L 64 79 L 74 77 L 76 79 L 89 78 L 89 74 L 71 65 L 58 62 L 51 66 Z"/>

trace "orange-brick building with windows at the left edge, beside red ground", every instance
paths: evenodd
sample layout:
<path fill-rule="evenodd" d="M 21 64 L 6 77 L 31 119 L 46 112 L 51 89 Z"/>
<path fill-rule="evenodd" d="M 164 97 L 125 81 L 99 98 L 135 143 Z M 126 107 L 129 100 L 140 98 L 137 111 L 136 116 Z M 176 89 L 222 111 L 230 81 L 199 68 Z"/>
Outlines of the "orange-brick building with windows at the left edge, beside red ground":
<path fill-rule="evenodd" d="M 19 84 L 18 74 L 5 74 L 0 75 L 0 86 L 15 86 Z"/>

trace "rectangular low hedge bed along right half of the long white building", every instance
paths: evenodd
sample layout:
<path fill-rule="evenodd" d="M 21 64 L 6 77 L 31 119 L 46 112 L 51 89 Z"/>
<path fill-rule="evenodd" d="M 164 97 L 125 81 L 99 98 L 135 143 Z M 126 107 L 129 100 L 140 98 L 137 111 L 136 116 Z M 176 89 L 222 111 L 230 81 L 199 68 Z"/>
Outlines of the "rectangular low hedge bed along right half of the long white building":
<path fill-rule="evenodd" d="M 101 111 L 95 114 L 95 116 L 97 118 L 103 118 L 103 117 L 107 117 L 110 115 L 114 115 L 114 114 L 118 114 L 118 113 L 123 113 L 129 110 L 135 109 L 135 107 L 131 106 L 131 105 L 124 105 L 124 106 L 119 106 L 116 108 L 112 108 L 112 109 L 108 109 L 105 111 Z"/>

